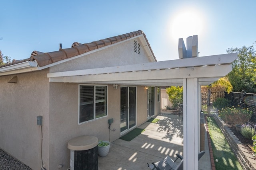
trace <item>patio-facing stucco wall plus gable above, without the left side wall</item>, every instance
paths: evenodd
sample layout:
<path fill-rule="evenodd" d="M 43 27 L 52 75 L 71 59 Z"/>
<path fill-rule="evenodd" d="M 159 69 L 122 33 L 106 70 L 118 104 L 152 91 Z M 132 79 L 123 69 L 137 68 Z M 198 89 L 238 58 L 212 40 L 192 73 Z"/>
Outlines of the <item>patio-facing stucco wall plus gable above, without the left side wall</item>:
<path fill-rule="evenodd" d="M 139 39 L 136 39 L 139 43 Z M 146 52 L 141 48 L 141 54 L 133 51 L 133 40 L 116 44 L 113 47 L 85 55 L 78 59 L 58 64 L 50 68 L 50 72 L 82 70 L 126 64 L 149 62 Z M 97 61 L 97 62 L 96 62 Z M 108 119 L 114 123 L 110 131 Z M 147 121 L 147 90 L 137 86 L 137 126 Z M 93 135 L 99 140 L 114 141 L 120 137 L 120 86 L 114 90 L 108 85 L 108 116 L 78 125 L 78 84 L 50 83 L 50 169 L 56 169 L 59 164 L 64 169 L 69 168 L 70 150 L 68 141 L 80 135 Z"/>

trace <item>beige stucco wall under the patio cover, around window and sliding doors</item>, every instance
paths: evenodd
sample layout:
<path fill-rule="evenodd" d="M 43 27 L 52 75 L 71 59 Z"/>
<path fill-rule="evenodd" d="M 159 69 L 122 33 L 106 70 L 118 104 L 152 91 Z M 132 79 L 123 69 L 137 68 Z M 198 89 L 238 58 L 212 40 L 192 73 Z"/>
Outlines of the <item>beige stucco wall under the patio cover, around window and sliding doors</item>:
<path fill-rule="evenodd" d="M 108 85 L 108 116 L 78 125 L 78 84 L 50 83 L 50 169 L 59 164 L 69 168 L 68 141 L 80 135 L 92 135 L 99 140 L 114 141 L 120 137 L 120 87 Z M 110 131 L 108 119 L 114 123 Z M 137 126 L 147 120 L 147 92 L 137 86 Z"/>

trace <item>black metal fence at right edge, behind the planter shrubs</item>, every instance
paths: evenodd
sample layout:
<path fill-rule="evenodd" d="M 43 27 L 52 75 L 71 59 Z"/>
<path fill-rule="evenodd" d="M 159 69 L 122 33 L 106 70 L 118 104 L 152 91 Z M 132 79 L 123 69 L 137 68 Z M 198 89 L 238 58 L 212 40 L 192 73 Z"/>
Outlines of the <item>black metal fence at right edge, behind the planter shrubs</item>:
<path fill-rule="evenodd" d="M 232 106 L 248 108 L 252 111 L 252 117 L 247 123 L 256 129 L 256 94 L 231 92 L 226 93 L 225 98 L 231 101 Z"/>

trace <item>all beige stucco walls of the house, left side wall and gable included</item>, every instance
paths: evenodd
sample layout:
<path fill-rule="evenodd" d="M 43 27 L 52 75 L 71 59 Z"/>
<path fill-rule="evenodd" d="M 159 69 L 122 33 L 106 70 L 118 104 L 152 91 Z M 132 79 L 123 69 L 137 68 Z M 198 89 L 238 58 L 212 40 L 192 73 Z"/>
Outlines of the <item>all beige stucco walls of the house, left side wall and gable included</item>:
<path fill-rule="evenodd" d="M 139 43 L 140 40 L 136 39 Z M 80 135 L 93 135 L 99 140 L 114 141 L 120 137 L 120 86 L 108 85 L 108 115 L 78 125 L 78 84 L 49 82 L 48 72 L 80 70 L 126 64 L 147 63 L 149 59 L 133 51 L 133 40 L 114 47 L 60 63 L 49 69 L 17 74 L 18 83 L 7 83 L 12 76 L 0 76 L 0 148 L 24 162 L 32 169 L 40 169 L 41 130 L 36 116 L 43 116 L 43 161 L 46 169 L 70 166 L 68 141 Z M 137 86 L 137 123 L 147 121 L 147 90 Z M 156 95 L 157 97 L 157 95 Z M 157 101 L 157 98 L 156 100 Z M 156 102 L 156 112 L 158 102 Z M 108 119 L 114 123 L 108 129 Z"/>

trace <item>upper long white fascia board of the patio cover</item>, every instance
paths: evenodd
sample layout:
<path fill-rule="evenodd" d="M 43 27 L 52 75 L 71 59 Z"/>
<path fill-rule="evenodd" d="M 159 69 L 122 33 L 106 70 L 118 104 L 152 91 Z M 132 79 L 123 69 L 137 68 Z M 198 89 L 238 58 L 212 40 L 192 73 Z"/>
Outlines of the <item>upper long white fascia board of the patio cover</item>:
<path fill-rule="evenodd" d="M 118 72 L 133 72 L 144 70 L 158 70 L 158 69 L 171 69 L 171 68 L 185 68 L 185 67 L 198 67 L 209 66 L 218 64 L 231 64 L 237 58 L 237 53 L 212 55 L 207 57 L 194 57 L 187 59 L 177 59 L 169 61 L 159 61 L 152 63 L 132 64 L 124 66 L 112 66 L 105 68 L 93 68 L 86 70 L 74 70 L 66 72 L 48 73 L 47 77 L 62 77 L 62 76 L 80 76 L 90 74 L 106 74 Z"/>

